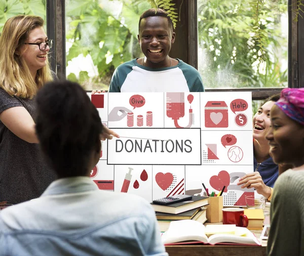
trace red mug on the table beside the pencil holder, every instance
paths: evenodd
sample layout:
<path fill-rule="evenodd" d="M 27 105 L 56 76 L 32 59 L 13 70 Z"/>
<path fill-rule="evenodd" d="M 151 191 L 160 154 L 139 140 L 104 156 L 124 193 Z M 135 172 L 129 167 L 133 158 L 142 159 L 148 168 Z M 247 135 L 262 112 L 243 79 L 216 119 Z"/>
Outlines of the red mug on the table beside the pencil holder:
<path fill-rule="evenodd" d="M 248 218 L 244 215 L 244 209 L 241 208 L 224 208 L 223 224 L 236 224 L 238 227 L 246 228 L 248 226 Z"/>

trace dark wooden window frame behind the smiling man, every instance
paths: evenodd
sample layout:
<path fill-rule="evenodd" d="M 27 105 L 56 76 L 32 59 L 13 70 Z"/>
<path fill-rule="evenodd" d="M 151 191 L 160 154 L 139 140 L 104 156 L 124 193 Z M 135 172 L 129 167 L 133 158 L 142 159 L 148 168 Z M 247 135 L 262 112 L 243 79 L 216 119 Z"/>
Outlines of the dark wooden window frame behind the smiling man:
<path fill-rule="evenodd" d="M 295 18 L 296 0 L 288 0 L 288 87 L 304 87 L 304 18 Z M 176 37 L 170 56 L 179 58 L 198 68 L 198 10 L 197 0 L 173 0 L 180 10 L 180 20 L 175 28 Z M 51 53 L 51 66 L 59 77 L 65 75 L 65 0 L 47 0 L 47 33 L 55 39 Z M 53 37 L 52 37 L 53 36 Z M 186 49 L 186 51 L 185 51 Z M 252 92 L 252 100 L 265 99 L 282 89 L 207 89 L 206 92 Z"/>

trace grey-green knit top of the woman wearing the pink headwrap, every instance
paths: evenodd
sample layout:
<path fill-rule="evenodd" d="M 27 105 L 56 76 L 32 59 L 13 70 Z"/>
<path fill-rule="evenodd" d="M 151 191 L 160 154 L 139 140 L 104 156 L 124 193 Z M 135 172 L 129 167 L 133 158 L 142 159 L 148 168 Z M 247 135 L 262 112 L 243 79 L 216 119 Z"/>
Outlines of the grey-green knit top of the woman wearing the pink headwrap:
<path fill-rule="evenodd" d="M 304 255 L 304 170 L 286 170 L 271 200 L 269 256 Z"/>

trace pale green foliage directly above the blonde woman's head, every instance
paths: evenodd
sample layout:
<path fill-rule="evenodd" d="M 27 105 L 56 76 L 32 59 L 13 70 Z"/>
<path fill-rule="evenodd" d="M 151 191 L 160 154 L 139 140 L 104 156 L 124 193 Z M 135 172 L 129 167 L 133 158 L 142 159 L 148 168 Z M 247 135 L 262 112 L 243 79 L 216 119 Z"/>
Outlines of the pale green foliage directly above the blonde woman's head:
<path fill-rule="evenodd" d="M 16 15 L 37 15 L 46 18 L 46 0 L 0 0 L 0 32 L 5 22 Z"/>

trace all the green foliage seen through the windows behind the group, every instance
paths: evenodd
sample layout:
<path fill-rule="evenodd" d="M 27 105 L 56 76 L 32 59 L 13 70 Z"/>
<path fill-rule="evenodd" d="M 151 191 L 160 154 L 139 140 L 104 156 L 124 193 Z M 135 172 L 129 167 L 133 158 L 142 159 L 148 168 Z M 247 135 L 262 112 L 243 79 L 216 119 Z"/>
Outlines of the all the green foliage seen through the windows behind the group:
<path fill-rule="evenodd" d="M 95 76 L 72 70 L 68 79 L 87 89 L 107 89 L 117 66 L 142 56 L 137 40 L 140 14 L 165 9 L 175 27 L 183 2 L 175 7 L 172 0 L 66 0 L 67 69 L 79 56 L 90 57 L 97 68 Z M 297 0 L 296 19 L 303 6 L 303 0 Z M 207 88 L 286 86 L 287 69 L 280 60 L 287 58 L 287 39 L 277 24 L 287 13 L 287 0 L 198 0 L 198 9 L 204 56 L 200 72 Z M 17 14 L 45 19 L 46 0 L 0 0 L 0 31 Z"/>

